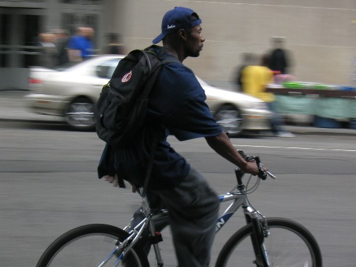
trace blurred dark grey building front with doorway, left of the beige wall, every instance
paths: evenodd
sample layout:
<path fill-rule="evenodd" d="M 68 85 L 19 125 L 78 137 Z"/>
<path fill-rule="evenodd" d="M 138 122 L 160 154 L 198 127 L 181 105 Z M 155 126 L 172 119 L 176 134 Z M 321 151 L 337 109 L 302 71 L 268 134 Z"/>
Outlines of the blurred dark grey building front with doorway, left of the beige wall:
<path fill-rule="evenodd" d="M 29 67 L 38 65 L 40 33 L 101 29 L 102 5 L 100 0 L 0 1 L 0 90 L 26 89 Z M 94 42 L 98 39 L 96 31 Z"/>

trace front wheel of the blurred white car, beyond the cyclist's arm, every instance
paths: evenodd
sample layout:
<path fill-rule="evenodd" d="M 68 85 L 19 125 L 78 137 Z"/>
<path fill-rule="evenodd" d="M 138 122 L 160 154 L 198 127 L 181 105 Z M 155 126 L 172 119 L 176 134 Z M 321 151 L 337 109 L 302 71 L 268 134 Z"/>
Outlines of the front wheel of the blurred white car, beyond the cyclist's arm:
<path fill-rule="evenodd" d="M 215 120 L 229 136 L 237 136 L 242 131 L 243 119 L 235 106 L 222 106 L 215 114 Z"/>

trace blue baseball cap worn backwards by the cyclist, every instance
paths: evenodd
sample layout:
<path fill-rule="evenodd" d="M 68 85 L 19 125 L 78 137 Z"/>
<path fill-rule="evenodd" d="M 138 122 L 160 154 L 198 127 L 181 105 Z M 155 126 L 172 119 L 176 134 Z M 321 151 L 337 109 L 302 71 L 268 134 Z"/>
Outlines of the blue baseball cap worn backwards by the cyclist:
<path fill-rule="evenodd" d="M 197 19 L 191 21 L 192 15 L 197 17 Z M 154 38 L 152 42 L 156 44 L 165 38 L 165 35 L 177 33 L 180 29 L 191 29 L 199 24 L 202 24 L 202 19 L 200 19 L 197 13 L 193 10 L 189 8 L 175 7 L 163 16 L 162 33 Z"/>

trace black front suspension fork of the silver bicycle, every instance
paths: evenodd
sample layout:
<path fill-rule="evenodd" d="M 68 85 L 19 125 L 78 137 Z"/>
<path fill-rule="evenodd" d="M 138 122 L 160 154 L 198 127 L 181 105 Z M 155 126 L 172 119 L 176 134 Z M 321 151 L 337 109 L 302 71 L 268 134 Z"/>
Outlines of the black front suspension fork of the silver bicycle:
<path fill-rule="evenodd" d="M 264 243 L 264 238 L 268 237 L 269 234 L 266 218 L 258 211 L 252 209 L 252 207 L 244 207 L 244 209 L 246 222 L 248 224 L 251 223 L 253 229 L 250 238 L 256 257 L 254 264 L 256 264 L 257 267 L 269 267 L 270 261 Z"/>

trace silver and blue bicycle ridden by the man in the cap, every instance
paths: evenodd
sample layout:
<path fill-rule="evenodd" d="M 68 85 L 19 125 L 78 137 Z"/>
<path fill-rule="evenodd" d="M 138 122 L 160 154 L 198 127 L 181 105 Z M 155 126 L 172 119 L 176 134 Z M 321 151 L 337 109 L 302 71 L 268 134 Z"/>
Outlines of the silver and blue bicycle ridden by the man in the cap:
<path fill-rule="evenodd" d="M 248 194 L 256 191 L 259 183 L 267 177 L 275 176 L 263 171 L 258 156 L 245 156 L 247 161 L 255 161 L 259 168 L 259 178 L 248 188 L 243 184 L 244 173 L 235 170 L 237 185 L 232 191 L 219 195 L 220 202 L 232 202 L 218 218 L 218 232 L 240 207 L 246 225 L 238 229 L 225 243 L 216 267 L 227 266 L 302 266 L 321 267 L 322 256 L 319 245 L 308 229 L 286 218 L 266 218 L 254 209 L 248 200 Z M 250 177 L 251 178 L 251 177 Z M 130 224 L 124 229 L 112 225 L 83 225 L 58 237 L 38 261 L 37 267 L 55 266 L 149 266 L 147 254 L 140 248 L 138 241 L 145 231 L 149 231 L 150 242 L 154 248 L 156 266 L 163 266 L 159 248 L 161 233 L 156 232 L 153 216 L 166 216 L 168 211 L 152 211 L 143 188 L 138 189 L 143 199 L 142 209 L 145 214 L 136 226 Z M 132 221 L 132 219 L 131 219 Z"/>

